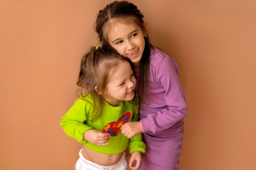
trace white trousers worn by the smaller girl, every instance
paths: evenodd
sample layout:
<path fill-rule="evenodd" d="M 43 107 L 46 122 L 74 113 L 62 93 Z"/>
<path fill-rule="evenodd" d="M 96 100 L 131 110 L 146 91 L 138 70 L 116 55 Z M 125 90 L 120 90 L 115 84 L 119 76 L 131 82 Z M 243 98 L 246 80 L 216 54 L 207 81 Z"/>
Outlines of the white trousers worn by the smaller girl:
<path fill-rule="evenodd" d="M 82 149 L 79 151 L 79 159 L 76 161 L 75 170 L 126 170 L 127 162 L 125 152 L 120 161 L 112 166 L 100 166 L 97 163 L 89 161 L 83 156 Z"/>

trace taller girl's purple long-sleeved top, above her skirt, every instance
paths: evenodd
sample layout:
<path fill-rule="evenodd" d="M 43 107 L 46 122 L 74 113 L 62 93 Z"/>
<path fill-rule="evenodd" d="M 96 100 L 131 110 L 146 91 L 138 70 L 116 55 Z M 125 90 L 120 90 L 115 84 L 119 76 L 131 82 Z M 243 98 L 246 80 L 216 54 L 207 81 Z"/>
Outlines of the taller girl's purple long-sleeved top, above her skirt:
<path fill-rule="evenodd" d="M 135 74 L 139 82 L 138 67 L 135 68 Z M 136 91 L 140 95 L 138 85 Z M 139 110 L 143 132 L 160 135 L 177 123 L 177 126 L 183 124 L 187 106 L 178 77 L 177 62 L 155 47 L 150 52 L 149 85 L 149 99 Z"/>

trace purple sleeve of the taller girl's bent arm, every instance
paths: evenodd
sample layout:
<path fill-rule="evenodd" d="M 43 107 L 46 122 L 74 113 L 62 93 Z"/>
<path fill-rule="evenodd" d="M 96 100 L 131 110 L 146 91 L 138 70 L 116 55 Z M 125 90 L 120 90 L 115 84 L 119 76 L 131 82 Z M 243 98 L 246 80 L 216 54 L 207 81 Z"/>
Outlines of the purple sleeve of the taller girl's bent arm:
<path fill-rule="evenodd" d="M 155 77 L 164 88 L 163 97 L 167 107 L 140 120 L 143 132 L 156 133 L 168 129 L 187 114 L 186 99 L 178 77 L 177 62 L 171 57 L 162 60 L 156 67 Z"/>

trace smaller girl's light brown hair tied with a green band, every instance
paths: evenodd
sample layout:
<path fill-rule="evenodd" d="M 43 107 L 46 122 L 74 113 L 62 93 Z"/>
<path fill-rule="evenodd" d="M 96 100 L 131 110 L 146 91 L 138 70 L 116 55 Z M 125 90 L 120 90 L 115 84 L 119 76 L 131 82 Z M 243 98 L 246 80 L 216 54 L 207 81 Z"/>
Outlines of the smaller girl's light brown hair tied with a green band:
<path fill-rule="evenodd" d="M 77 96 L 84 99 L 89 93 L 92 96 L 92 120 L 97 120 L 102 113 L 104 106 L 105 88 L 108 84 L 108 79 L 113 73 L 113 69 L 119 65 L 122 61 L 130 62 L 126 57 L 120 55 L 112 47 L 92 47 L 88 53 L 83 55 L 80 65 L 79 77 L 76 82 L 79 86 Z M 94 87 L 97 86 L 97 91 Z"/>

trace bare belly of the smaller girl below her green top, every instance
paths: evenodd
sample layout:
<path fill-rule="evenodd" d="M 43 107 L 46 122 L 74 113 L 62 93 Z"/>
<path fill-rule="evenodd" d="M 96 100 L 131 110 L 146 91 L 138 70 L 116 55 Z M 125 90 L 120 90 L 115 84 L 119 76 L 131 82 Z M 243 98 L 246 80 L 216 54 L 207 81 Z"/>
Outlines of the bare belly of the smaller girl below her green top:
<path fill-rule="evenodd" d="M 97 163 L 100 166 L 112 166 L 115 165 L 121 157 L 123 156 L 124 152 L 118 153 L 118 154 L 103 154 L 96 152 L 94 150 L 91 150 L 83 145 L 83 156 L 88 159 L 89 161 L 92 161 L 94 163 Z"/>

